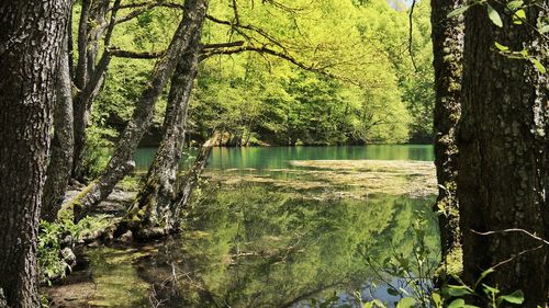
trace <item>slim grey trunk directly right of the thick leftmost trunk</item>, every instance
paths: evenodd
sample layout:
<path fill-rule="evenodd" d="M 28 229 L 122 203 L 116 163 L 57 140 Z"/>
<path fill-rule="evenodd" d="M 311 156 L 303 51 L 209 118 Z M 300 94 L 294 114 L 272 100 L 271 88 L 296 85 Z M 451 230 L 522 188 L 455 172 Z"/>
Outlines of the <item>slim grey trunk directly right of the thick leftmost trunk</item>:
<path fill-rule="evenodd" d="M 41 218 L 54 221 L 60 208 L 72 168 L 72 87 L 70 83 L 68 35 L 59 60 L 54 113 L 54 138 L 44 186 Z"/>

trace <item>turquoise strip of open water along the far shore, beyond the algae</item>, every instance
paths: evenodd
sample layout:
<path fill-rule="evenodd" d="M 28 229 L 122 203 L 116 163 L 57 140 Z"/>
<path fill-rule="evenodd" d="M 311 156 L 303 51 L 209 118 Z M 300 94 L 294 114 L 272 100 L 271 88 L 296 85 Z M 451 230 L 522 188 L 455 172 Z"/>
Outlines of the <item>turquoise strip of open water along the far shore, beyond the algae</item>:
<path fill-rule="evenodd" d="M 137 170 L 148 168 L 156 148 L 139 148 L 135 153 Z M 192 151 L 191 151 L 192 156 Z M 186 155 L 186 157 L 189 157 Z M 291 160 L 421 160 L 435 159 L 430 145 L 369 145 L 327 147 L 244 147 L 214 148 L 210 169 L 290 168 Z M 186 164 L 186 160 L 182 161 Z"/>

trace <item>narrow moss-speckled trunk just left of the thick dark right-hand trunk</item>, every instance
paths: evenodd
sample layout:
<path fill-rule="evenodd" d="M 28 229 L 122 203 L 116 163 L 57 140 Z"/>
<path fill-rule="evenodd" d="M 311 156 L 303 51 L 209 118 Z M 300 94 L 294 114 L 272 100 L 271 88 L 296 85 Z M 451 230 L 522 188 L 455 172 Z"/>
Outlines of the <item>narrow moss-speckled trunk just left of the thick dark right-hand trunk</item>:
<path fill-rule="evenodd" d="M 445 272 L 461 267 L 459 207 L 456 197 L 458 175 L 457 124 L 461 115 L 461 72 L 463 56 L 463 16 L 447 15 L 463 0 L 433 0 L 433 52 L 435 67 L 435 164 L 438 197 L 435 212 L 440 227 L 440 248 Z M 452 263 L 452 264 L 449 264 Z M 444 273 L 442 273 L 444 274 Z M 459 273 L 449 273 L 459 274 Z"/>

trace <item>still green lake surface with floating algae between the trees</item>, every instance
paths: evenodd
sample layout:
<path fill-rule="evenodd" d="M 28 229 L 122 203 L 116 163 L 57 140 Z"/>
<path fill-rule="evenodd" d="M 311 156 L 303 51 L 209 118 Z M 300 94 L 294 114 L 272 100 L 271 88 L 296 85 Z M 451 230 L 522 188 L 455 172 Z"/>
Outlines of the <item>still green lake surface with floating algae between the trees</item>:
<path fill-rule="evenodd" d="M 137 164 L 152 152 L 142 149 Z M 393 288 L 412 292 L 418 276 L 428 288 L 439 258 L 430 160 L 428 146 L 214 149 L 182 235 L 87 249 L 93 290 L 71 303 L 394 307 Z"/>

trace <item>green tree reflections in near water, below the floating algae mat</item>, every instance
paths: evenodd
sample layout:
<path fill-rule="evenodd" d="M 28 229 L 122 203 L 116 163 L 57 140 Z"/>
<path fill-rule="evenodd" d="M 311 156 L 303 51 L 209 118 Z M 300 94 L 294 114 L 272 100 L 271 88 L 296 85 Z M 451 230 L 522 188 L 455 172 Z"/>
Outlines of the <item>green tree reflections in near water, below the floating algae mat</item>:
<path fill-rule="evenodd" d="M 351 305 L 354 290 L 378 280 L 360 248 L 380 262 L 411 255 L 417 240 L 411 221 L 432 202 L 389 195 L 320 201 L 248 184 L 208 195 L 187 217 L 183 237 L 137 250 L 143 255 L 131 259 L 134 271 L 116 263 L 120 251 L 90 251 L 96 283 L 126 273 L 134 277 L 123 281 L 149 285 L 133 303 L 120 292 L 111 299 L 103 294 L 102 303 L 138 307 L 154 290 L 163 307 L 309 307 L 311 297 L 334 293 L 339 305 Z M 428 221 L 434 262 L 437 231 L 433 217 Z"/>

